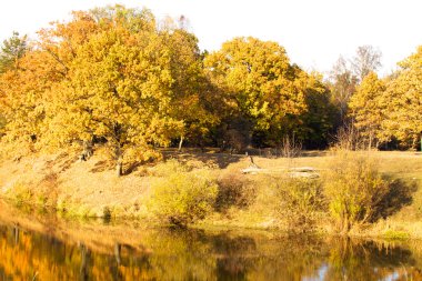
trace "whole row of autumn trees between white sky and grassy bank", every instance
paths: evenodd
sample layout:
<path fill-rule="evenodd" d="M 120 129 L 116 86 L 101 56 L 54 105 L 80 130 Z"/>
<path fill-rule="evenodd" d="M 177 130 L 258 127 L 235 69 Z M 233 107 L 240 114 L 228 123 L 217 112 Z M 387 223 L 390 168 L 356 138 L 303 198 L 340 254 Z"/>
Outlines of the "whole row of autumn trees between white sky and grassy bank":
<path fill-rule="evenodd" d="M 379 79 L 381 53 L 360 47 L 323 81 L 283 47 L 234 38 L 201 52 L 185 18 L 158 22 L 122 6 L 73 12 L 0 52 L 0 136 L 30 151 L 96 142 L 117 169 L 183 144 L 242 151 L 294 137 L 326 148 L 345 123 L 370 148 L 416 148 L 422 131 L 422 48 Z"/>

